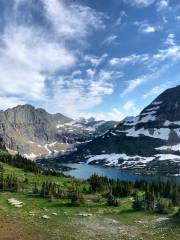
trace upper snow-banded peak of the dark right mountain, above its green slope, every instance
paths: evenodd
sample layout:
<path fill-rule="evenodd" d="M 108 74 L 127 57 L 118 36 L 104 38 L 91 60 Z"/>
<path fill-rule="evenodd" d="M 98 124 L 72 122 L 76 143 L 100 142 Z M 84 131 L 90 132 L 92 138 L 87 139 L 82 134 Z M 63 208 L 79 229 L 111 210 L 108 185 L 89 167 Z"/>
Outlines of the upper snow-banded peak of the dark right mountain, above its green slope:
<path fill-rule="evenodd" d="M 140 135 L 166 140 L 169 144 L 180 141 L 180 86 L 159 95 L 139 116 L 124 119 L 116 132 L 126 136 Z"/>

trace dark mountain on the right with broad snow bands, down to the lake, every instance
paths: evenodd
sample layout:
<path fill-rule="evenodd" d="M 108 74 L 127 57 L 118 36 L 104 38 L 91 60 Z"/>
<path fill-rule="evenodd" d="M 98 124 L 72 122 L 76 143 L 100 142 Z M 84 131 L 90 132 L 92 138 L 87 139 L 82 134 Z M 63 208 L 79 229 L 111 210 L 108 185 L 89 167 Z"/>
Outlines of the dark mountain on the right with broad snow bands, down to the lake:
<path fill-rule="evenodd" d="M 138 116 L 125 118 L 65 158 L 141 172 L 180 174 L 180 86 L 167 89 Z"/>

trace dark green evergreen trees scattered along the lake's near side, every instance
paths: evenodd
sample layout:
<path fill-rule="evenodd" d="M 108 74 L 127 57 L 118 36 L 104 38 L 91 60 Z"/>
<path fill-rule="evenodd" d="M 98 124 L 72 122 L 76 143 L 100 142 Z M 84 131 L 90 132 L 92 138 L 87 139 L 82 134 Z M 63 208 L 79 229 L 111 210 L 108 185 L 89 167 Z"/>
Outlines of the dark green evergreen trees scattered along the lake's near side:
<path fill-rule="evenodd" d="M 21 168 L 24 171 L 34 174 L 59 176 L 51 170 L 43 170 L 35 162 L 29 161 L 20 154 L 10 155 L 7 152 L 0 152 L 0 162 Z M 19 191 L 20 182 L 13 175 L 4 175 L 3 166 L 0 165 L 0 190 Z M 28 179 L 27 179 L 28 181 Z M 119 199 L 133 197 L 132 207 L 135 210 L 152 210 L 158 212 L 172 211 L 174 207 L 180 206 L 180 185 L 170 181 L 145 180 L 122 181 L 108 179 L 107 177 L 92 175 L 88 181 L 88 189 L 82 189 L 78 181 L 72 180 L 72 186 L 64 191 L 60 185 L 51 181 L 44 181 L 41 186 L 34 184 L 32 193 L 41 197 L 68 198 L 73 205 L 79 206 L 84 202 L 83 193 L 99 194 L 106 199 L 107 204 L 118 206 Z"/>

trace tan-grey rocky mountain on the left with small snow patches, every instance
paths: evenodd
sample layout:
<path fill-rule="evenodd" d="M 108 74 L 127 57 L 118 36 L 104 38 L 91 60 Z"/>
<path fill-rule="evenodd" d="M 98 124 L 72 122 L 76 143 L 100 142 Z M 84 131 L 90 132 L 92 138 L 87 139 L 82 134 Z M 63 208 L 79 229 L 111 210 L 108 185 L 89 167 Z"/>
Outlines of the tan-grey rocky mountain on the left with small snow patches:
<path fill-rule="evenodd" d="M 28 104 L 0 111 L 0 136 L 6 149 L 30 159 L 70 151 L 105 133 L 114 124 L 93 118 L 74 121 Z"/>

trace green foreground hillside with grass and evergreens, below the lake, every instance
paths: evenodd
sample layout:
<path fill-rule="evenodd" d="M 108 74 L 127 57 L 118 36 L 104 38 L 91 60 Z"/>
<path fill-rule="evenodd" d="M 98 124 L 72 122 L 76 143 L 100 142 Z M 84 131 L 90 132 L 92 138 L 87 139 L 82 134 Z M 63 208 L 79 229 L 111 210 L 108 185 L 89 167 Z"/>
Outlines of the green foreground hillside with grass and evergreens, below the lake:
<path fill-rule="evenodd" d="M 5 163 L 0 166 L 0 183 L 2 173 L 4 179 L 4 190 L 0 184 L 0 240 L 12 239 L 12 236 L 14 240 L 179 239 L 179 217 L 175 215 L 178 207 L 167 209 L 163 214 L 133 207 L 134 191 L 138 189 L 141 198 L 153 185 L 108 182 L 97 176 L 91 181 L 79 181 L 63 176 L 37 175 Z M 14 180 L 15 185 L 12 184 Z M 119 205 L 107 204 L 109 184 Z M 55 186 L 59 190 L 55 195 L 54 190 L 42 191 L 43 186 L 48 189 Z M 75 186 L 84 199 L 80 205 L 73 205 L 70 199 L 69 194 Z M 159 187 L 157 190 L 162 196 L 166 193 L 166 201 L 169 201 L 172 186 L 179 191 L 173 184 L 159 183 L 159 186 L 161 191 Z M 178 195 L 176 199 L 179 199 Z"/>

